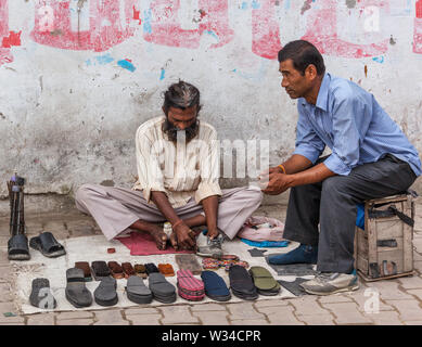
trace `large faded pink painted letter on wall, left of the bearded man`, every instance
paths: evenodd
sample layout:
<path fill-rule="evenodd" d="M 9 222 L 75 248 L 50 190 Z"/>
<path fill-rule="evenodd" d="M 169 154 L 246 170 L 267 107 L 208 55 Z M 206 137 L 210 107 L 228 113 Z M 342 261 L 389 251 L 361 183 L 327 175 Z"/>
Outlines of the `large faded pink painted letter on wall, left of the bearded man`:
<path fill-rule="evenodd" d="M 135 28 L 129 27 L 137 0 L 125 1 L 125 13 L 120 13 L 118 1 L 91 0 L 89 9 L 89 29 L 72 29 L 71 1 L 44 1 L 36 3 L 35 28 L 30 34 L 34 41 L 66 50 L 106 51 L 131 37 Z M 88 2 L 84 2 L 88 7 Z M 120 15 L 126 26 L 123 27 Z M 79 14 L 80 21 L 80 14 Z"/>

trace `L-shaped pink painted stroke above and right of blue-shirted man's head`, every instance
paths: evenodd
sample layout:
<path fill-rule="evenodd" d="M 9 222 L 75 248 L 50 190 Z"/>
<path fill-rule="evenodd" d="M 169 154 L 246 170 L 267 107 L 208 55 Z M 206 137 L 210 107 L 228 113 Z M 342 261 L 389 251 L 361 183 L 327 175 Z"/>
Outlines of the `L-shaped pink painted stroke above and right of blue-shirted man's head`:
<path fill-rule="evenodd" d="M 343 57 L 375 56 L 385 53 L 388 49 L 388 39 L 370 44 L 356 44 L 338 38 L 336 0 L 319 1 L 318 9 L 308 11 L 308 29 L 303 39 L 312 42 L 321 53 Z M 385 1 L 384 1 L 385 3 Z M 382 1 L 361 1 L 361 5 L 380 5 Z"/>

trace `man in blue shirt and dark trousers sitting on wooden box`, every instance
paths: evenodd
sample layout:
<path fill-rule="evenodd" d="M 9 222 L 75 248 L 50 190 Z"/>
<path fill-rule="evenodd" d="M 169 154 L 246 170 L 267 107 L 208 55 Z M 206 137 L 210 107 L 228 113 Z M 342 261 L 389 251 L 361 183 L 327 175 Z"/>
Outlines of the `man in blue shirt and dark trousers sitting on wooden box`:
<path fill-rule="evenodd" d="M 290 42 L 278 57 L 281 86 L 298 99 L 296 147 L 261 174 L 261 187 L 267 194 L 292 188 L 284 237 L 300 245 L 269 262 L 317 264 L 316 279 L 302 284 L 310 294 L 357 290 L 357 204 L 405 192 L 421 175 L 418 152 L 372 94 L 325 74 L 314 44 Z M 332 153 L 320 157 L 325 145 Z"/>

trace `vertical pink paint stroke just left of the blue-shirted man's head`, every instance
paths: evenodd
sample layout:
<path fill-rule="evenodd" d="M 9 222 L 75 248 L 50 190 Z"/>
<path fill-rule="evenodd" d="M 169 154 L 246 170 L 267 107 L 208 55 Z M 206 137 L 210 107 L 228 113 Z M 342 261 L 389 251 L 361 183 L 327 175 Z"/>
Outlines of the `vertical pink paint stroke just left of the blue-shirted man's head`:
<path fill-rule="evenodd" d="M 258 9 L 252 10 L 252 52 L 277 59 L 280 42 L 280 24 L 276 18 L 276 0 L 261 0 Z"/>

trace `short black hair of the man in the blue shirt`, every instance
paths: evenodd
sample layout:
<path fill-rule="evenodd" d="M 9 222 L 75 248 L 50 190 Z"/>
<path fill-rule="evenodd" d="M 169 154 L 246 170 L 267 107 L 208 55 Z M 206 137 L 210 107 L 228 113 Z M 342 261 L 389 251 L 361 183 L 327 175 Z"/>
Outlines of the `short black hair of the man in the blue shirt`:
<path fill-rule="evenodd" d="M 325 65 L 321 53 L 308 41 L 296 40 L 285 44 L 284 48 L 279 51 L 279 62 L 284 62 L 287 59 L 293 61 L 294 68 L 302 75 L 305 75 L 305 69 L 309 64 L 315 65 L 319 76 L 325 73 Z"/>

